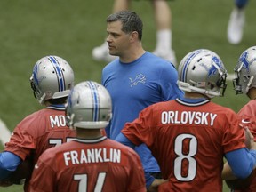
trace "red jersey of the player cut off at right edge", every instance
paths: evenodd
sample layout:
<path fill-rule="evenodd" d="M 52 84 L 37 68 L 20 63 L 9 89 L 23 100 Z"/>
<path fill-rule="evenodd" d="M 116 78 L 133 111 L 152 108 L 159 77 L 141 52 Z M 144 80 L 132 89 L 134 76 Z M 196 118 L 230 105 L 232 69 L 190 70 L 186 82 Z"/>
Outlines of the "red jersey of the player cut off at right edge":
<path fill-rule="evenodd" d="M 244 127 L 248 127 L 254 136 L 256 142 L 256 100 L 250 100 L 243 108 L 238 112 L 238 116 L 242 118 L 242 124 Z M 256 174 L 254 172 L 254 178 L 249 188 L 243 190 L 235 190 L 236 192 L 255 192 L 256 191 Z"/>

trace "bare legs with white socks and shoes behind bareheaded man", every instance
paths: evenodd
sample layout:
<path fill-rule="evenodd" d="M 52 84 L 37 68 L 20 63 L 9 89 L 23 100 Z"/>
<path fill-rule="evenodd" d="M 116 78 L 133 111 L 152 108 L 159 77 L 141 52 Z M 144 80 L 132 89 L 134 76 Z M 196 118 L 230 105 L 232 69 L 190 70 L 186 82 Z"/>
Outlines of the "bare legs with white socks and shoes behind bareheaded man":
<path fill-rule="evenodd" d="M 131 0 L 115 0 L 113 12 L 128 10 Z M 175 52 L 172 50 L 172 12 L 167 0 L 151 0 L 156 22 L 156 47 L 153 51 L 159 57 L 169 60 L 176 65 Z M 94 60 L 111 61 L 116 57 L 109 54 L 108 42 L 92 50 Z"/>

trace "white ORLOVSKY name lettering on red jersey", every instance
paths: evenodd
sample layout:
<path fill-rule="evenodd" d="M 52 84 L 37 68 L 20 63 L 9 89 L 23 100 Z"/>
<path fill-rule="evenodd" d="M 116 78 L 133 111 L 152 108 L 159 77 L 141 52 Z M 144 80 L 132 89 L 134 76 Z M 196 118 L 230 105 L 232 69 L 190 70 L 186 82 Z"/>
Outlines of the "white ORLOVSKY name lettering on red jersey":
<path fill-rule="evenodd" d="M 204 124 L 213 125 L 217 114 L 200 111 L 163 111 L 162 124 Z"/>

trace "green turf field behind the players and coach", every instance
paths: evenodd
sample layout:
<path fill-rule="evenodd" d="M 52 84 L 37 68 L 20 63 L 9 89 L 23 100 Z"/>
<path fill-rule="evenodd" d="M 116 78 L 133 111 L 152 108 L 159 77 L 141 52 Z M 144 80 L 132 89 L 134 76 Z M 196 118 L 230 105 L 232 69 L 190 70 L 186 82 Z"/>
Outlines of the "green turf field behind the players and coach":
<path fill-rule="evenodd" d="M 74 68 L 76 83 L 100 82 L 101 69 L 106 63 L 92 60 L 91 52 L 106 36 L 105 19 L 112 4 L 113 0 L 0 1 L 0 118 L 11 131 L 24 116 L 42 108 L 29 84 L 32 68 L 39 58 L 59 55 Z M 207 48 L 217 52 L 228 73 L 233 73 L 240 53 L 255 44 L 255 1 L 250 1 L 247 7 L 244 39 L 239 45 L 228 44 L 226 38 L 233 0 L 175 0 L 169 4 L 173 18 L 172 47 L 178 61 L 192 50 Z M 148 0 L 132 1 L 132 10 L 144 21 L 142 43 L 152 51 L 156 28 L 151 4 Z M 234 94 L 231 82 L 225 96 L 214 101 L 235 111 L 248 101 L 245 96 Z M 0 191 L 22 189 L 11 187 Z M 228 189 L 224 187 L 224 191 Z"/>

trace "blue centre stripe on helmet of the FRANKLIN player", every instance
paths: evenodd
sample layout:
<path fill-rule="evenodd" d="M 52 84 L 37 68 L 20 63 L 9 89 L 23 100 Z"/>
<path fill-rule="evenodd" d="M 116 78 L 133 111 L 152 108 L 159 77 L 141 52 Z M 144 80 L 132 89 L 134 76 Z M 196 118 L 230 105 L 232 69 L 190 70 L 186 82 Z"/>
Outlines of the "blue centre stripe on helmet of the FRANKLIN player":
<path fill-rule="evenodd" d="M 99 93 L 97 90 L 97 87 L 95 84 L 93 84 L 92 81 L 88 81 L 89 87 L 92 90 L 92 121 L 98 121 L 99 120 L 99 114 L 100 114 L 100 100 L 99 100 Z"/>

